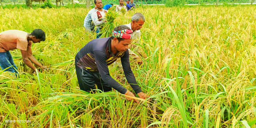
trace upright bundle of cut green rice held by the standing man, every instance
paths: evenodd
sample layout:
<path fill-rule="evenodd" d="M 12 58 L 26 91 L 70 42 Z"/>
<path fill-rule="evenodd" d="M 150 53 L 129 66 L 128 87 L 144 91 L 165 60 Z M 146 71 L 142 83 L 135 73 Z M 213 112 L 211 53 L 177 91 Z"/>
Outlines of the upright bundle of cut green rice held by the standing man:
<path fill-rule="evenodd" d="M 101 38 L 112 36 L 112 31 L 115 28 L 113 22 L 118 16 L 118 14 L 119 14 L 118 12 L 114 12 L 111 10 L 106 13 L 105 20 L 107 20 L 108 22 L 103 24 L 103 27 L 101 29 L 101 33 L 102 33 Z"/>

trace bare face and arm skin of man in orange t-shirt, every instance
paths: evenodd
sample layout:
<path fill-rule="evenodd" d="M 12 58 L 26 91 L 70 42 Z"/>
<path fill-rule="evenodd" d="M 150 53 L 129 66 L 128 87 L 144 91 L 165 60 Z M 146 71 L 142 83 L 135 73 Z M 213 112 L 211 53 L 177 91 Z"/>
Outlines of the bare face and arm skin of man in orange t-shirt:
<path fill-rule="evenodd" d="M 33 43 L 40 43 L 41 39 L 37 39 L 35 36 L 32 36 L 31 33 L 27 34 L 27 41 L 32 41 Z M 32 55 L 32 49 L 31 48 L 27 48 L 27 51 L 23 51 L 20 50 L 21 55 L 22 55 L 22 60 L 23 62 L 30 67 L 31 69 L 33 69 L 35 71 L 35 66 L 31 63 L 31 61 L 37 65 L 38 67 L 45 69 L 47 68 L 47 66 L 43 66 L 42 64 L 40 64 L 37 59 L 35 59 L 35 57 Z"/>

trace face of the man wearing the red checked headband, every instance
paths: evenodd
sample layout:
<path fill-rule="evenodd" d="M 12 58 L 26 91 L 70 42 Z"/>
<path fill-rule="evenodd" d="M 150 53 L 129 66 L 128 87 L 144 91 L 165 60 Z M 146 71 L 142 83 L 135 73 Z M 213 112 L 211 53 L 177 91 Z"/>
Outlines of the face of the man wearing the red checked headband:
<path fill-rule="evenodd" d="M 129 44 L 132 43 L 132 39 L 124 39 L 118 43 L 118 40 L 114 38 L 114 47 L 118 52 L 125 52 L 129 48 Z"/>

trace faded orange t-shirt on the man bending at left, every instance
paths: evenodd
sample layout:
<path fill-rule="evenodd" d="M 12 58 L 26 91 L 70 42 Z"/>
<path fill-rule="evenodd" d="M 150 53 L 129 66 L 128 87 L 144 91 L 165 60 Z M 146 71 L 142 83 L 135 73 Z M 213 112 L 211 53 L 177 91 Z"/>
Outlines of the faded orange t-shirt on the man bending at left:
<path fill-rule="evenodd" d="M 0 52 L 14 49 L 27 51 L 31 48 L 32 41 L 27 41 L 27 32 L 20 30 L 7 30 L 0 33 Z"/>

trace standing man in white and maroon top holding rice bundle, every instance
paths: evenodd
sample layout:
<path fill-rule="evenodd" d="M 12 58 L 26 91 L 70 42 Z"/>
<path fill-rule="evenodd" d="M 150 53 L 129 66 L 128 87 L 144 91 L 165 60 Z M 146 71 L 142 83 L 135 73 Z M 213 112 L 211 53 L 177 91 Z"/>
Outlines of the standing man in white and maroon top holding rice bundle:
<path fill-rule="evenodd" d="M 93 12 L 92 19 L 93 23 L 96 26 L 96 38 L 101 37 L 101 25 L 105 22 L 105 13 L 108 12 L 108 10 L 105 10 L 102 8 L 102 1 L 101 0 L 94 0 L 94 4 L 96 6 L 95 11 Z"/>

